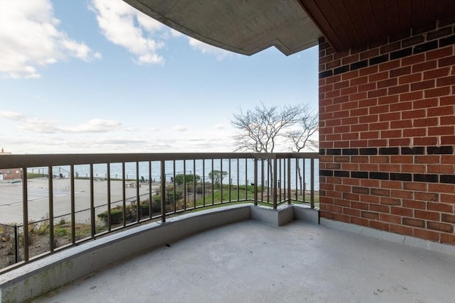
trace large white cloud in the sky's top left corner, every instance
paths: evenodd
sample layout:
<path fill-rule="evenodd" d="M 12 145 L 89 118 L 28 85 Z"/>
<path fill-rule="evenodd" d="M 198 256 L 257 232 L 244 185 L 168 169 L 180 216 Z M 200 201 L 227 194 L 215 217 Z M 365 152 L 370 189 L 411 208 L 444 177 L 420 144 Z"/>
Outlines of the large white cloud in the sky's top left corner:
<path fill-rule="evenodd" d="M 38 78 L 39 68 L 68 57 L 100 59 L 100 53 L 58 30 L 49 0 L 1 0 L 0 6 L 0 77 Z"/>

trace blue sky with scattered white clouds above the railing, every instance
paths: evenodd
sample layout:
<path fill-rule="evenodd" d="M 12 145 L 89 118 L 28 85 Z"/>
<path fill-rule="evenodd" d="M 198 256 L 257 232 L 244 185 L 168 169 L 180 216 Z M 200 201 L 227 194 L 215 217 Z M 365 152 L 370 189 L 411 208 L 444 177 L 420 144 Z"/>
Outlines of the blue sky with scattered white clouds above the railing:
<path fill-rule="evenodd" d="M 317 110 L 317 70 L 317 47 L 238 55 L 119 0 L 0 0 L 0 148 L 230 152 L 240 109 Z"/>

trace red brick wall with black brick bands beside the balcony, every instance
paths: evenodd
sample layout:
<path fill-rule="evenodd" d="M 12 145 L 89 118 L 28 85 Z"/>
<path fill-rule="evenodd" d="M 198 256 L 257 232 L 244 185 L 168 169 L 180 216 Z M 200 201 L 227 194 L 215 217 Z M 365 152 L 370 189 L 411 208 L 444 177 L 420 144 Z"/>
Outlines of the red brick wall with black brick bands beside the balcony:
<path fill-rule="evenodd" d="M 454 33 L 321 39 L 321 217 L 455 245 Z"/>

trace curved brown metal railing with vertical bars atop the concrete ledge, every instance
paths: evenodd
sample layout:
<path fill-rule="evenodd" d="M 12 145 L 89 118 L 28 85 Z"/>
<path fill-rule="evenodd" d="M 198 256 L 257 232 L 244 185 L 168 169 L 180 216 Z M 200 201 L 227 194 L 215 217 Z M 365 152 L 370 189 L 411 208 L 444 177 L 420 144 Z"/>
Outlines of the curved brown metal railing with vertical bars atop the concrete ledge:
<path fill-rule="evenodd" d="M 0 272 L 146 221 L 234 202 L 318 205 L 318 153 L 1 155 Z"/>

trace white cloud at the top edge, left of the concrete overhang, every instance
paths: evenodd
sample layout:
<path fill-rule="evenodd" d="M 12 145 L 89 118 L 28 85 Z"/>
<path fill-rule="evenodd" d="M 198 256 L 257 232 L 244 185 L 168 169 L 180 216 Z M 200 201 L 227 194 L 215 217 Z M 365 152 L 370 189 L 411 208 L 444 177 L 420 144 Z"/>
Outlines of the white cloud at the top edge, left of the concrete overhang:
<path fill-rule="evenodd" d="M 158 53 L 164 42 L 152 37 L 164 30 L 161 23 L 120 0 L 93 0 L 91 9 L 105 38 L 126 48 L 137 64 L 164 64 L 164 57 Z"/>

